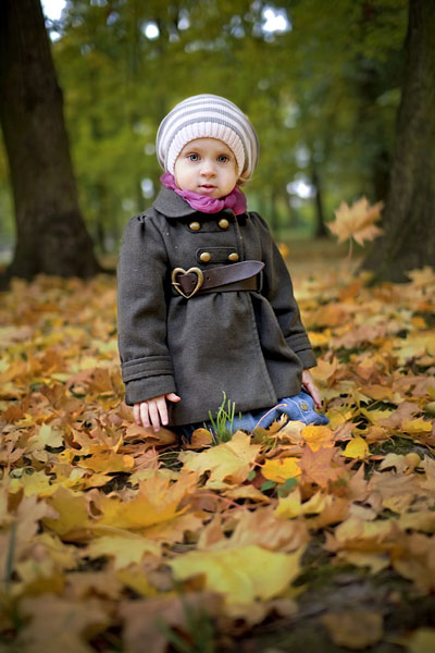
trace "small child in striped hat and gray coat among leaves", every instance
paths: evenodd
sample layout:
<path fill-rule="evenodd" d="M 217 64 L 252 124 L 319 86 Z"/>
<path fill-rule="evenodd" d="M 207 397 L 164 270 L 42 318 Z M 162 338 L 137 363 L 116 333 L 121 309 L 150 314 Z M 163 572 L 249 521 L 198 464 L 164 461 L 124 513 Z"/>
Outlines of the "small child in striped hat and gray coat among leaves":
<path fill-rule="evenodd" d="M 126 225 L 117 278 L 125 401 L 146 428 L 189 438 L 225 395 L 234 430 L 282 414 L 328 421 L 287 268 L 239 188 L 258 150 L 248 118 L 219 96 L 190 97 L 160 124 L 163 187 Z"/>

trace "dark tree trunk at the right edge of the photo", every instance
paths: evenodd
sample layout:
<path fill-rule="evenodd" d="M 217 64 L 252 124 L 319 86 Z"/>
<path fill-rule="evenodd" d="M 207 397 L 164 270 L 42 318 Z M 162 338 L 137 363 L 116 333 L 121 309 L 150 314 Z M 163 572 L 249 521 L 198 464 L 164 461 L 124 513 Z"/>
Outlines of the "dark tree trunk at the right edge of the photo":
<path fill-rule="evenodd" d="M 406 63 L 385 235 L 363 267 L 375 280 L 406 281 L 435 261 L 435 0 L 409 0 Z"/>

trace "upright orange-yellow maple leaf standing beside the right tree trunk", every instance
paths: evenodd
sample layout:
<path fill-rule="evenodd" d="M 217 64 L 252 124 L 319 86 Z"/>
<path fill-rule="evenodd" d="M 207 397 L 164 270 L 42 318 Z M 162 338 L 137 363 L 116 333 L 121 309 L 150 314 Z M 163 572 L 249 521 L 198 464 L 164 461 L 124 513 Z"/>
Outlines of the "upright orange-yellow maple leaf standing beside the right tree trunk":
<path fill-rule="evenodd" d="M 382 201 L 370 206 L 365 197 L 361 197 L 350 207 L 343 201 L 335 211 L 335 222 L 330 222 L 327 226 L 338 236 L 338 243 L 353 238 L 359 245 L 363 245 L 364 241 L 373 241 L 384 233 L 374 224 L 381 219 L 383 206 Z"/>

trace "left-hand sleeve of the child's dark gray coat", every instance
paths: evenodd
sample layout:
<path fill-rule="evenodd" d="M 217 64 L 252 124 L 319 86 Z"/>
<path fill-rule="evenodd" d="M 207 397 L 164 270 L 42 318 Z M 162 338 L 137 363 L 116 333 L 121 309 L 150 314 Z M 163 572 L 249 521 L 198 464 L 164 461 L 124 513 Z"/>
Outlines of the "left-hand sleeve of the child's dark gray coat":
<path fill-rule="evenodd" d="M 117 264 L 117 343 L 129 406 L 175 392 L 166 345 L 167 256 L 150 217 L 125 227 Z"/>

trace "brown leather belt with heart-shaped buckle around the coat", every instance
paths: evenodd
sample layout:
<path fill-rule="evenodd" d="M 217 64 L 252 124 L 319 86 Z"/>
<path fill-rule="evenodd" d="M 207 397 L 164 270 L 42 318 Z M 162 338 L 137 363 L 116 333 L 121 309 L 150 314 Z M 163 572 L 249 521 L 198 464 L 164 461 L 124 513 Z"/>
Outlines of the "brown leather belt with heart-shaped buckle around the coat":
<path fill-rule="evenodd" d="M 264 263 L 261 261 L 241 261 L 209 270 L 175 268 L 172 271 L 172 285 L 186 299 L 203 293 L 258 291 L 260 289 L 259 273 L 263 268 Z"/>

